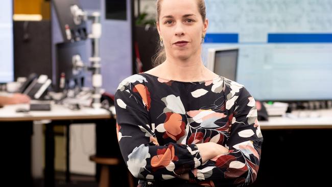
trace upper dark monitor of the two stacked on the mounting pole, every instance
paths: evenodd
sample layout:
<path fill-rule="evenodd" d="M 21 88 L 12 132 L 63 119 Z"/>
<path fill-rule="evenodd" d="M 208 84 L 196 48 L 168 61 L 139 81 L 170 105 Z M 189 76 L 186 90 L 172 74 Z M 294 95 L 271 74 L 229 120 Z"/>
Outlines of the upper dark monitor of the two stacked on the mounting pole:
<path fill-rule="evenodd" d="M 78 0 L 53 0 L 59 20 L 60 30 L 65 42 L 87 38 L 86 21 L 79 15 L 82 7 Z"/>

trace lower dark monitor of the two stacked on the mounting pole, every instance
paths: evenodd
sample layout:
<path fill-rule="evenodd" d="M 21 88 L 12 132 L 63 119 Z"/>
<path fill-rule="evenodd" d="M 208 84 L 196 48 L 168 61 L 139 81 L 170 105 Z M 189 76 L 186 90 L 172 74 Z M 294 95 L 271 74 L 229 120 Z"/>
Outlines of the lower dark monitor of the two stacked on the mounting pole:
<path fill-rule="evenodd" d="M 81 60 L 82 63 L 88 62 L 87 41 L 77 41 L 73 43 L 58 43 L 56 45 L 56 85 L 55 91 L 61 89 L 61 74 L 64 75 L 65 89 L 82 87 L 84 83 L 84 68 L 75 68 L 75 61 Z M 82 64 L 84 65 L 84 64 Z"/>

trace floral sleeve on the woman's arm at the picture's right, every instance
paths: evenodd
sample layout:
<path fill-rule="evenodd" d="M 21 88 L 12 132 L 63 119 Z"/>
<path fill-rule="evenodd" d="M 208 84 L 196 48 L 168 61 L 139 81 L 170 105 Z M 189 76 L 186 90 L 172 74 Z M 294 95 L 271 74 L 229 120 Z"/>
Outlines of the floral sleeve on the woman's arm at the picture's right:
<path fill-rule="evenodd" d="M 247 185 L 257 176 L 263 136 L 257 121 L 255 101 L 244 87 L 229 101 L 232 99 L 235 102 L 230 105 L 228 114 L 230 135 L 225 145 L 229 152 L 189 172 L 192 182 L 209 186 Z"/>

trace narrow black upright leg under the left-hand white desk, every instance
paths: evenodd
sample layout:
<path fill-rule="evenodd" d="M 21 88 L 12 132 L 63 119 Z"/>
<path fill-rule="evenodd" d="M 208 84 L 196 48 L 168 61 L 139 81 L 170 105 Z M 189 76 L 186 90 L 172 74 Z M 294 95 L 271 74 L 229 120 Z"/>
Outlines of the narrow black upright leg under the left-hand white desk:
<path fill-rule="evenodd" d="M 54 187 L 54 157 L 55 157 L 55 141 L 54 141 L 54 125 L 46 124 L 45 130 L 45 174 L 44 186 Z"/>

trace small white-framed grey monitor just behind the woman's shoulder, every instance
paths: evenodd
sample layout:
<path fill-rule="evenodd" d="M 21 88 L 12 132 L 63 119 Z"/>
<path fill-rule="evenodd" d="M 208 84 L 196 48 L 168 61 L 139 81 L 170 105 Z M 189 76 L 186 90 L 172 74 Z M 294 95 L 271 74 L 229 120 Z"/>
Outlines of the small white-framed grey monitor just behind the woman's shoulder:
<path fill-rule="evenodd" d="M 238 48 L 210 48 L 206 66 L 212 72 L 236 81 L 238 56 Z"/>

